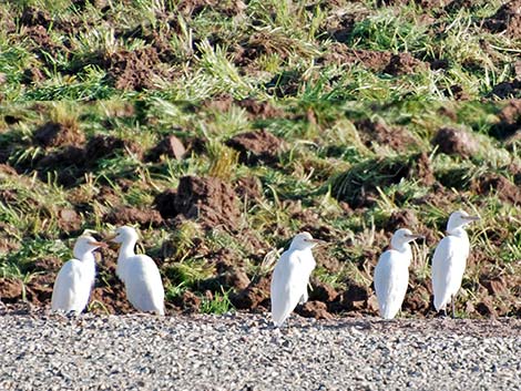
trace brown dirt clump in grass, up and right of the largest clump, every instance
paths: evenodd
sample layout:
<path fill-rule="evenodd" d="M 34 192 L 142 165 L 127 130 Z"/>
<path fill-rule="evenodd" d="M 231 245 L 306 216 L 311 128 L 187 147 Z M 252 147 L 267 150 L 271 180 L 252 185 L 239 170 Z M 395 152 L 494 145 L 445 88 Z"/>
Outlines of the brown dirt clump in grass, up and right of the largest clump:
<path fill-rule="evenodd" d="M 226 142 L 239 152 L 239 161 L 245 164 L 273 164 L 283 142 L 266 130 L 241 133 Z"/>

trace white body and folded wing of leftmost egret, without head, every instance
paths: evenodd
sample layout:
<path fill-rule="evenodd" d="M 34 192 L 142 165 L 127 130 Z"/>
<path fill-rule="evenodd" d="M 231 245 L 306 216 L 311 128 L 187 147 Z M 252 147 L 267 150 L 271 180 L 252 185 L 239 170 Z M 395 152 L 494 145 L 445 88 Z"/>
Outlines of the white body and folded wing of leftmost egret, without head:
<path fill-rule="evenodd" d="M 53 310 L 81 312 L 89 301 L 90 290 L 91 285 L 82 278 L 82 263 L 70 259 L 58 272 L 51 307 Z"/>

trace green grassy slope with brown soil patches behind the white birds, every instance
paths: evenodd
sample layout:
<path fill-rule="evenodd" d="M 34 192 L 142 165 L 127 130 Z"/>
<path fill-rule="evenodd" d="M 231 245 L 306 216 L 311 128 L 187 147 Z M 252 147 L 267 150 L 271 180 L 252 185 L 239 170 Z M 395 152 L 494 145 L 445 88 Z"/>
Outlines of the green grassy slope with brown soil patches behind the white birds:
<path fill-rule="evenodd" d="M 263 185 L 260 199 L 244 203 L 238 233 L 204 231 L 191 223 L 180 231 L 141 227 L 143 247 L 162 261 L 171 299 L 187 288 L 197 291 L 204 287 L 201 281 L 216 274 L 204 257 L 188 251 L 194 237 L 211 250 L 229 248 L 253 277 L 266 272 L 263 255 L 310 224 L 331 243 L 320 257 L 340 263 L 319 267 L 318 278 L 340 292 L 353 284 L 369 286 L 390 235 L 389 219 L 401 208 L 417 217 L 411 229 L 428 234 L 427 244 L 416 249 L 411 270 L 412 287 L 427 287 L 429 253 L 448 214 L 464 208 L 482 216 L 469 229 L 474 255 L 463 281 L 466 299 L 478 308 L 489 300 L 500 313 L 519 313 L 519 204 L 494 191 L 476 192 L 480 178 L 491 174 L 519 186 L 519 140 L 493 137 L 505 102 L 494 101 L 491 92 L 513 80 L 520 41 L 490 33 L 480 23 L 494 14 L 499 2 L 450 12 L 415 4 L 377 8 L 372 2 L 218 2 L 195 10 L 174 1 L 100 3 L 109 6 L 88 3 L 80 9 L 69 1 L 25 1 L 50 10 L 39 17 L 43 31 L 31 25 L 34 12 L 20 18 L 19 2 L 1 6 L 1 21 L 10 29 L 0 31 L 0 72 L 6 79 L 0 150 L 20 173 L 0 173 L 0 270 L 6 277 L 31 284 L 35 260 L 70 254 L 78 229 L 68 233 L 60 223 L 63 208 L 81 212 L 81 229 L 106 233 L 112 227 L 103 216 L 116 206 L 152 207 L 154 196 L 176 188 L 181 176 L 215 175 L 218 166 L 218 174 L 231 183 L 253 176 Z M 154 58 L 147 48 L 159 53 L 157 61 L 140 65 L 153 74 L 152 82 L 136 78 L 126 83 L 124 72 L 140 70 L 123 66 L 122 56 L 135 52 L 140 59 Z M 426 65 L 389 75 L 330 56 L 346 48 L 409 52 Z M 428 63 L 436 59 L 447 60 L 447 66 L 431 70 Z M 31 69 L 39 73 L 27 71 Z M 469 101 L 456 101 L 456 92 Z M 278 112 L 255 117 L 226 96 L 267 101 Z M 411 141 L 371 143 L 357 127 L 362 120 L 380 121 L 398 135 L 402 132 L 397 130 L 405 130 Z M 48 121 L 78 128 L 86 142 L 103 134 L 127 145 L 139 143 L 141 152 L 174 130 L 186 143 L 204 140 L 213 153 L 150 163 L 132 147 L 121 148 L 98 161 L 72 186 L 62 186 L 55 172 L 67 166 L 38 165 L 42 156 L 63 148 L 34 142 L 33 132 Z M 447 126 L 471 132 L 478 146 L 470 157 L 435 151 L 431 140 Z M 227 140 L 260 127 L 286 141 L 277 164 L 245 165 L 227 158 Z M 405 164 L 418 152 L 429 156 L 437 184 L 413 175 L 389 184 L 378 175 L 377 168 L 388 162 Z M 353 204 L 349 192 L 336 192 L 349 171 L 377 188 L 374 202 L 355 210 L 346 207 L 346 200 Z M 130 192 L 123 191 L 123 178 L 131 181 Z M 104 187 L 112 188 L 112 197 L 100 195 Z M 177 250 L 165 253 L 165 243 Z M 494 292 L 490 280 L 500 280 L 504 289 L 489 296 Z M 215 297 L 203 300 L 203 310 L 228 307 Z"/>

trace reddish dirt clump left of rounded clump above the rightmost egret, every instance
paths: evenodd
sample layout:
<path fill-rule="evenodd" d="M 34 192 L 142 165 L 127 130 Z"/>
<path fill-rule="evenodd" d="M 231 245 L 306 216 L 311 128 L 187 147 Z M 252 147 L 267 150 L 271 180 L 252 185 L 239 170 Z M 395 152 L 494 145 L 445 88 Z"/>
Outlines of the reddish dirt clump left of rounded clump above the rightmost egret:
<path fill-rule="evenodd" d="M 355 122 L 355 126 L 367 147 L 371 147 L 372 142 L 389 145 L 395 151 L 405 151 L 411 145 L 417 145 L 406 128 L 389 127 L 384 121 L 361 120 Z"/>

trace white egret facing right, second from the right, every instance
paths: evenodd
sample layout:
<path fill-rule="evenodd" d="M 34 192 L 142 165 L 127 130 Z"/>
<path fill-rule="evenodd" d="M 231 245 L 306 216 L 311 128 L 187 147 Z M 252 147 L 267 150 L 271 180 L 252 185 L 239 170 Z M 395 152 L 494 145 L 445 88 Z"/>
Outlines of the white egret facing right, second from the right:
<path fill-rule="evenodd" d="M 409 243 L 422 236 L 409 229 L 398 229 L 391 238 L 390 249 L 378 259 L 375 268 L 375 290 L 384 319 L 392 319 L 401 308 L 409 285 L 409 265 L 412 251 Z"/>

